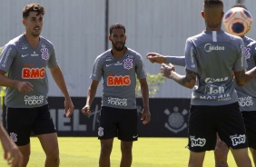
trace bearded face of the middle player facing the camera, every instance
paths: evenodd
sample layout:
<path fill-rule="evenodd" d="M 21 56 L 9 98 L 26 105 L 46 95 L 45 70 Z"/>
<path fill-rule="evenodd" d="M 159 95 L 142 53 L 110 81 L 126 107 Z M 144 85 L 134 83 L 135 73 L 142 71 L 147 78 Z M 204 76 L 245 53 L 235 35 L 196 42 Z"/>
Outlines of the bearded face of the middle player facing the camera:
<path fill-rule="evenodd" d="M 116 51 L 123 51 L 126 35 L 121 28 L 113 29 L 112 34 L 109 35 L 109 40 L 112 42 L 112 47 Z"/>

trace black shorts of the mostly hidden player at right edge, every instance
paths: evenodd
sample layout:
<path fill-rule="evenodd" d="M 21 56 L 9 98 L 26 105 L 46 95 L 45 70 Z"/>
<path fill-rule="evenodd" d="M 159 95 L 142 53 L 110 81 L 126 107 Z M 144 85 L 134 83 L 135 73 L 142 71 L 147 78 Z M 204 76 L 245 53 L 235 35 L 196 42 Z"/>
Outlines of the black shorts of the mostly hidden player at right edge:
<path fill-rule="evenodd" d="M 256 149 L 256 111 L 241 112 L 245 124 L 248 145 Z"/>

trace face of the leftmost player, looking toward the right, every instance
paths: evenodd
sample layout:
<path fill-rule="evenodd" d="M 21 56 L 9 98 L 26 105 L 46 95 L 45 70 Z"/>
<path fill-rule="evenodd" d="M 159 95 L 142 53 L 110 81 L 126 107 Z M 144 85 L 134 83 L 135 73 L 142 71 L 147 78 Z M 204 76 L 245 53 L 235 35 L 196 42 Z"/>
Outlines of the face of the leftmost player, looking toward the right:
<path fill-rule="evenodd" d="M 43 28 L 44 15 L 38 15 L 37 12 L 30 12 L 28 17 L 23 20 L 25 33 L 33 36 L 39 36 Z"/>

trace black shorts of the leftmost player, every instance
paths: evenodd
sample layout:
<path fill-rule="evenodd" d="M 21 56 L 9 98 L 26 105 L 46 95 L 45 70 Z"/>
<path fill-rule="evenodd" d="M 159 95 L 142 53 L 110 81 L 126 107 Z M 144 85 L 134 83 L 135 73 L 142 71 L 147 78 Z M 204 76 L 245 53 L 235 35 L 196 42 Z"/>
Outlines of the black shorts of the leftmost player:
<path fill-rule="evenodd" d="M 30 142 L 30 135 L 56 133 L 48 104 L 35 108 L 6 108 L 5 128 L 12 140 L 23 146 Z"/>

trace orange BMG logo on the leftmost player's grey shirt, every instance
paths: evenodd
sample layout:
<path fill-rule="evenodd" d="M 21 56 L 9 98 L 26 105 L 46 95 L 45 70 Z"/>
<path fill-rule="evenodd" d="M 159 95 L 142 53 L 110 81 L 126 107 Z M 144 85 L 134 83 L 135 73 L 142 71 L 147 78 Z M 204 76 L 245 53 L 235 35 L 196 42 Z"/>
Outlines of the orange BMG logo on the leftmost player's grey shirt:
<path fill-rule="evenodd" d="M 23 68 L 23 79 L 43 79 L 45 76 L 45 68 Z"/>

